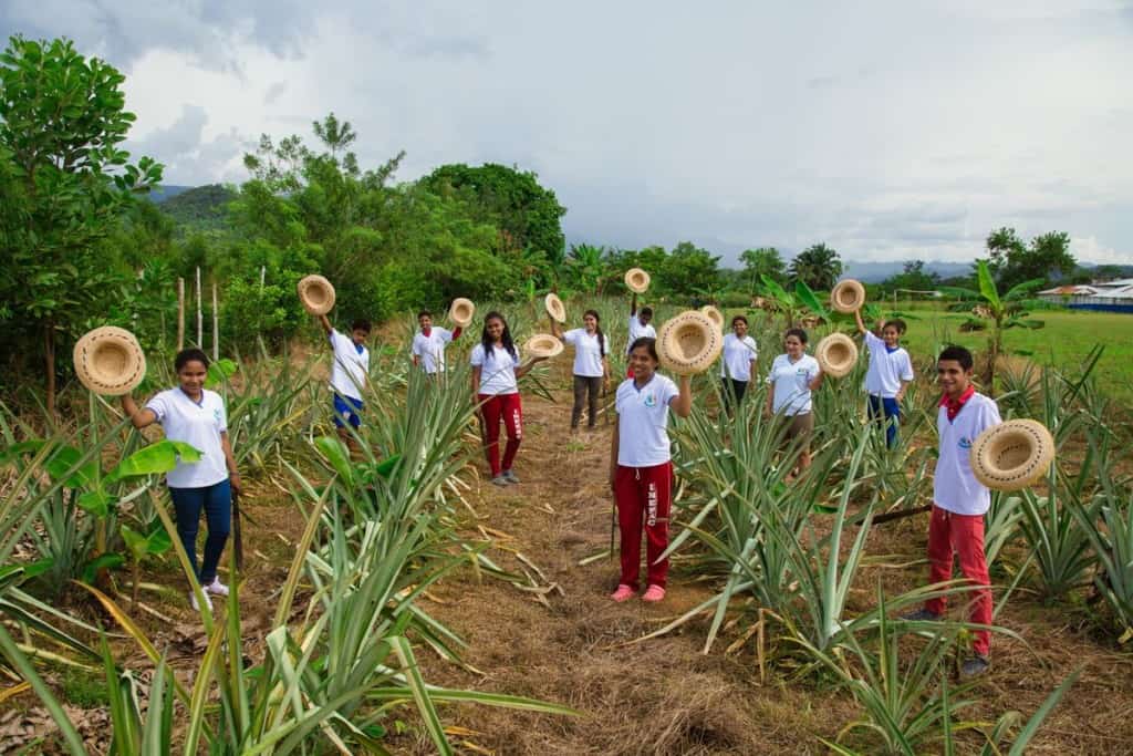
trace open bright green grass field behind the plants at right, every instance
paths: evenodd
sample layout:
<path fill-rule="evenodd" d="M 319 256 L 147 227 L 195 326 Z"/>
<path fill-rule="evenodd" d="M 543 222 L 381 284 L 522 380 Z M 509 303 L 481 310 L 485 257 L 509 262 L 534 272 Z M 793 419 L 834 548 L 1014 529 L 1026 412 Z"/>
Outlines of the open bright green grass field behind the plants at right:
<path fill-rule="evenodd" d="M 904 345 L 918 363 L 940 343 L 960 343 L 976 352 L 987 350 L 988 331 L 961 333 L 966 313 L 939 309 L 912 311 Z M 1097 375 L 1108 392 L 1126 407 L 1133 406 L 1133 315 L 1074 311 L 1045 311 L 1033 315 L 1045 328 L 1008 329 L 1004 332 L 1004 349 L 1008 354 L 1031 352 L 1029 358 L 1042 365 L 1074 368 L 1101 343 L 1106 350 Z"/>

